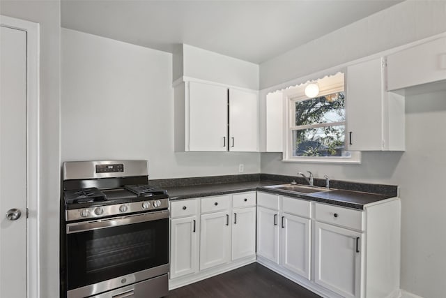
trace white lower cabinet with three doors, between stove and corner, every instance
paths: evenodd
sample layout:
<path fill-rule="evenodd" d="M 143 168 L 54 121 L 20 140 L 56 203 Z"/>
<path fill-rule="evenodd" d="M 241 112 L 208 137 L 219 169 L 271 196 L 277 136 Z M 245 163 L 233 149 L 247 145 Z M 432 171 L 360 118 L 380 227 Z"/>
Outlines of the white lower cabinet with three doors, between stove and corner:
<path fill-rule="evenodd" d="M 256 261 L 255 191 L 170 207 L 170 290 Z"/>

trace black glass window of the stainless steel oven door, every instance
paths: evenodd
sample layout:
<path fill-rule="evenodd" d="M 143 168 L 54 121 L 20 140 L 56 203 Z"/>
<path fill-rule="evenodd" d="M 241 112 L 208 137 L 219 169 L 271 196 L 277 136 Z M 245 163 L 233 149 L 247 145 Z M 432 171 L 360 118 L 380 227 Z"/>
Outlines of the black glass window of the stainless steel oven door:
<path fill-rule="evenodd" d="M 67 234 L 68 290 L 169 263 L 169 219 Z"/>

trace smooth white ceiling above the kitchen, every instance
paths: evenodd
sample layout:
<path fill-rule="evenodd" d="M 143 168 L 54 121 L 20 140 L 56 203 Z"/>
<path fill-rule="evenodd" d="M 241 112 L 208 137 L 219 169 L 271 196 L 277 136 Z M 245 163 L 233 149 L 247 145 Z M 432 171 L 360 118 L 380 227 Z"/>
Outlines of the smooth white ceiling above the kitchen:
<path fill-rule="evenodd" d="M 62 27 L 171 52 L 186 43 L 260 64 L 401 0 L 62 0 Z"/>

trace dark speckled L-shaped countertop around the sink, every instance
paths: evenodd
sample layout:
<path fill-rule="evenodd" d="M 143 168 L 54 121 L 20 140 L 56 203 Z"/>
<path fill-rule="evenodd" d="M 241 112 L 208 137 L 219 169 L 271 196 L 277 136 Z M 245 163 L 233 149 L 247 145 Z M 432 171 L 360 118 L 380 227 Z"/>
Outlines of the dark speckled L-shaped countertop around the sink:
<path fill-rule="evenodd" d="M 279 184 L 284 184 L 284 181 L 243 181 L 222 184 L 166 187 L 166 189 L 169 193 L 170 200 L 184 200 L 189 198 L 209 197 L 213 195 L 226 195 L 244 191 L 264 191 L 278 195 L 286 195 L 293 198 L 300 198 L 303 200 L 312 200 L 315 202 L 323 202 L 360 210 L 364 209 L 364 205 L 366 204 L 371 204 L 396 196 L 394 193 L 379 194 L 341 189 L 330 189 L 330 191 L 302 195 L 282 191 L 277 188 L 266 187 Z"/>

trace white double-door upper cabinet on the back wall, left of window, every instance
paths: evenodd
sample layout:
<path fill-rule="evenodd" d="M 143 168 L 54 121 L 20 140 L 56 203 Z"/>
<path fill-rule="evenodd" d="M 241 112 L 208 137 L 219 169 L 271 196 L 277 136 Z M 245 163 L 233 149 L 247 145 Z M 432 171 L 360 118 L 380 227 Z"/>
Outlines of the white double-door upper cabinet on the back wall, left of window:
<path fill-rule="evenodd" d="M 256 91 L 186 81 L 174 98 L 176 151 L 259 151 Z"/>

